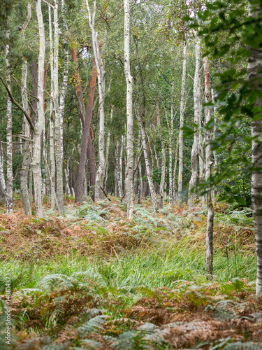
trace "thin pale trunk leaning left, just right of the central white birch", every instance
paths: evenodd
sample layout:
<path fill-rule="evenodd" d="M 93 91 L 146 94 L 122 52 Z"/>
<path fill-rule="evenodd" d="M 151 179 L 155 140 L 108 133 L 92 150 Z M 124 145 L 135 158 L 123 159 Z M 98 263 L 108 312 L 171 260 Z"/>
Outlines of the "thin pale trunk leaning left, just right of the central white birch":
<path fill-rule="evenodd" d="M 145 135 L 145 126 L 143 125 L 143 120 L 142 120 L 142 118 L 140 116 L 140 112 L 139 112 L 139 107 L 138 107 L 138 102 L 137 101 L 136 101 L 136 116 L 138 118 L 138 124 L 139 124 L 139 127 L 140 127 L 140 133 L 141 133 L 142 142 L 143 142 L 145 168 L 146 168 L 146 172 L 147 172 L 148 185 L 150 187 L 150 195 L 151 195 L 151 199 L 152 199 L 152 204 L 153 204 L 154 211 L 158 211 L 159 210 L 159 204 L 157 203 L 157 195 L 156 195 L 156 191 L 154 190 L 152 174 L 150 172 L 150 160 L 148 159 L 148 155 L 147 155 L 147 139 L 146 139 L 146 135 Z"/>

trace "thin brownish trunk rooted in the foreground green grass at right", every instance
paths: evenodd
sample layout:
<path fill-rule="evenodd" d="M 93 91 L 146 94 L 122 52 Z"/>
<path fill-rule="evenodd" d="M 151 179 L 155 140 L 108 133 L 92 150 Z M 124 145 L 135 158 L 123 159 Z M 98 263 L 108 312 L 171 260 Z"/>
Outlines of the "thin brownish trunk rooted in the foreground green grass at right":
<path fill-rule="evenodd" d="M 205 56 L 203 59 L 205 69 L 205 103 L 210 102 L 210 71 L 208 66 L 208 57 Z M 205 125 L 211 120 L 211 109 L 205 108 Z M 211 176 L 212 161 L 211 161 L 211 131 L 207 130 L 206 146 L 205 146 L 205 180 Z M 214 226 L 214 207 L 212 203 L 212 193 L 208 190 L 206 195 L 206 202 L 208 206 L 208 223 L 207 223 L 207 252 L 206 252 L 206 263 L 207 263 L 207 278 L 212 279 L 213 275 L 213 226 Z"/>

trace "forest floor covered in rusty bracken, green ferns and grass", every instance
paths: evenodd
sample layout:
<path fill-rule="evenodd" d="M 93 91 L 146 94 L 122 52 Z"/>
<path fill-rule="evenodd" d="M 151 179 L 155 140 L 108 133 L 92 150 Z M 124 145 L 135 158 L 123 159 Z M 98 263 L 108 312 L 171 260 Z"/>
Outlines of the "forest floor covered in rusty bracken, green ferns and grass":
<path fill-rule="evenodd" d="M 262 298 L 249 209 L 215 205 L 214 279 L 205 206 L 150 201 L 132 221 L 117 198 L 45 219 L 0 207 L 0 349 L 262 349 Z M 6 344 L 6 274 L 11 345 Z M 7 275 L 9 276 L 9 275 Z"/>

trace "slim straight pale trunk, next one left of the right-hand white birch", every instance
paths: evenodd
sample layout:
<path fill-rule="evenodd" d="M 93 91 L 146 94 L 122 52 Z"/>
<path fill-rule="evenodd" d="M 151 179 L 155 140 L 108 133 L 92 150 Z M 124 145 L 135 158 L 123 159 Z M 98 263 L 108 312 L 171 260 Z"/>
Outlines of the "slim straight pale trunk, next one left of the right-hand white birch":
<path fill-rule="evenodd" d="M 184 95 L 186 85 L 186 69 L 187 69 L 187 41 L 184 42 L 183 50 L 183 72 L 182 72 L 182 87 L 180 100 L 180 133 L 179 133 L 179 156 L 178 156 L 178 196 L 182 200 L 183 191 L 183 130 L 184 127 Z"/>

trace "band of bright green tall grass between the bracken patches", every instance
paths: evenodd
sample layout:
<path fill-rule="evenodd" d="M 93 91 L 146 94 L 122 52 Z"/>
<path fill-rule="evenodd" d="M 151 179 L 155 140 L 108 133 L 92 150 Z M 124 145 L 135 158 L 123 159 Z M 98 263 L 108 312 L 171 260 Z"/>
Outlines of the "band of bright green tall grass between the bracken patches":
<path fill-rule="evenodd" d="M 99 274 L 108 285 L 126 288 L 144 285 L 148 288 L 165 286 L 172 288 L 173 282 L 179 279 L 193 281 L 205 276 L 205 251 L 187 244 L 187 238 L 177 244 L 161 244 L 150 246 L 143 250 L 121 253 L 109 260 L 99 258 L 84 258 L 76 253 L 68 256 L 57 256 L 45 261 L 2 262 L 0 266 L 0 290 L 3 290 L 4 276 L 8 272 L 12 275 L 12 288 L 34 288 L 46 274 L 66 274 L 74 272 L 88 272 L 90 279 Z M 233 253 L 228 261 L 229 279 L 238 276 L 249 281 L 256 278 L 256 257 L 254 253 L 237 253 L 235 262 Z M 228 267 L 226 255 L 217 250 L 214 254 L 214 279 L 228 281 Z M 1 292 L 0 292 L 1 293 Z"/>

